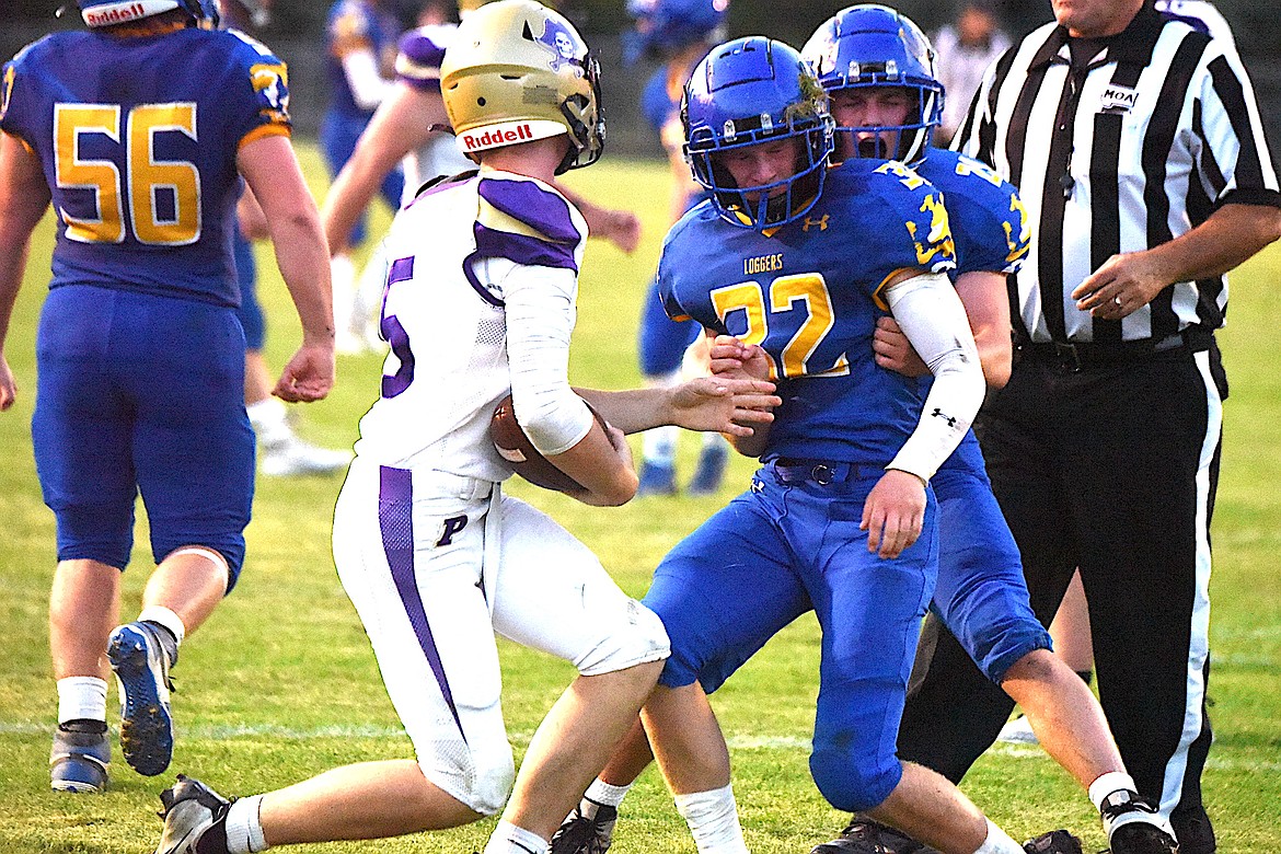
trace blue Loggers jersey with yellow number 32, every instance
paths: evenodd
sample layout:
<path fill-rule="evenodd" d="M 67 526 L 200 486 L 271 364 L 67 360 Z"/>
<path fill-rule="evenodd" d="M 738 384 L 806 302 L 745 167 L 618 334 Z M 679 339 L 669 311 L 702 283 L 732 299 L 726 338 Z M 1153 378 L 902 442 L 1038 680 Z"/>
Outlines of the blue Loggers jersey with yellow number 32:
<path fill-rule="evenodd" d="M 851 160 L 804 218 L 767 233 L 698 205 L 667 236 L 658 288 L 669 316 L 769 353 L 783 406 L 762 458 L 884 466 L 916 429 L 922 397 L 872 359 L 881 288 L 903 269 L 953 265 L 938 189 L 902 164 Z"/>

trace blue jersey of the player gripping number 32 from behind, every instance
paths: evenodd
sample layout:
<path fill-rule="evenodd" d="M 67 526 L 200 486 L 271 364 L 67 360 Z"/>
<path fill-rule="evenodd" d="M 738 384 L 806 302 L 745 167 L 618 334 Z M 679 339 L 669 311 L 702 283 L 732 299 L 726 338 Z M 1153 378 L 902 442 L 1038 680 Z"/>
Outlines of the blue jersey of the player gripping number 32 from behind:
<path fill-rule="evenodd" d="M 965 273 L 1018 271 L 1031 247 L 1031 227 L 1013 184 L 977 160 L 944 149 L 930 149 L 913 169 L 947 200 L 957 251 L 953 282 Z M 922 376 L 921 393 L 933 384 L 933 376 Z M 939 469 L 985 472 L 972 430 Z"/>

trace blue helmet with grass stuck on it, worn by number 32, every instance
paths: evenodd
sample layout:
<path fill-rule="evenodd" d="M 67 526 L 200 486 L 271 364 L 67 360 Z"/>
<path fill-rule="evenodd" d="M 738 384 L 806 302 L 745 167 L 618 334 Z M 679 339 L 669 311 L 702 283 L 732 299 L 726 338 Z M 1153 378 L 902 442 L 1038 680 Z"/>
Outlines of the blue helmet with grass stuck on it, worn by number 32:
<path fill-rule="evenodd" d="M 685 83 L 680 119 L 694 181 L 712 191 L 726 222 L 771 228 L 799 219 L 819 201 L 835 123 L 822 86 L 796 49 L 763 36 L 712 49 Z M 787 138 L 801 145 L 796 172 L 783 181 L 739 187 L 720 163 L 734 149 Z"/>

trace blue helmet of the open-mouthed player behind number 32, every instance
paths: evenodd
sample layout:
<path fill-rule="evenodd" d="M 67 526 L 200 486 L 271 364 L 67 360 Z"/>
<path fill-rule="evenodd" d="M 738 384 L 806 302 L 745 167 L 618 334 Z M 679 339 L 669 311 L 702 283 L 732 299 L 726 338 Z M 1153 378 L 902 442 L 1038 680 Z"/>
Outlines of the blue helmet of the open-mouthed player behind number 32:
<path fill-rule="evenodd" d="M 943 85 L 934 73 L 934 47 L 910 18 L 889 6 L 862 4 L 829 18 L 801 51 L 828 92 L 862 87 L 904 88 L 916 96 L 908 122 L 901 125 L 838 128 L 851 134 L 889 134 L 897 143 L 872 151 L 849 146 L 853 156 L 877 156 L 907 164 L 925 159 L 930 138 L 943 119 Z"/>

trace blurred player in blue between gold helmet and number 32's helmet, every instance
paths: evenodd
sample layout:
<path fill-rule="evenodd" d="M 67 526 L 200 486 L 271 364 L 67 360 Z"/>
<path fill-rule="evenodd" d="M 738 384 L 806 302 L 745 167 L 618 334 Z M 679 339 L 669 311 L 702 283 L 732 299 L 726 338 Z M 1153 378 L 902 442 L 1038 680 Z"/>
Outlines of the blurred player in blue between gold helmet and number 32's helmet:
<path fill-rule="evenodd" d="M 690 178 L 681 151 L 680 93 L 694 65 L 712 45 L 725 38 L 728 6 L 729 0 L 628 0 L 628 14 L 635 24 L 624 36 L 624 61 L 634 64 L 640 56 L 664 61 L 640 95 L 640 110 L 667 155 L 671 173 L 669 224 L 706 198 Z M 658 300 L 658 283 L 653 280 L 640 306 L 638 350 L 644 382 L 656 387 L 680 382 L 687 351 L 698 338 L 698 324 L 667 318 Z M 706 373 L 706 350 L 690 353 L 689 365 L 694 373 Z M 642 437 L 642 495 L 675 494 L 679 438 L 678 428 L 649 430 Z M 725 440 L 716 434 L 706 434 L 687 492 L 693 495 L 715 493 L 725 476 L 728 461 L 729 446 Z"/>

